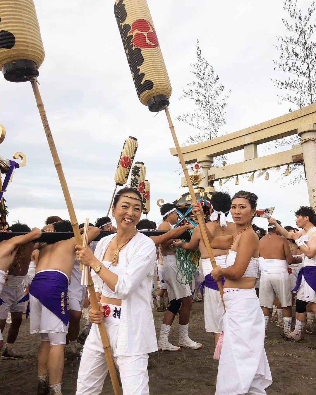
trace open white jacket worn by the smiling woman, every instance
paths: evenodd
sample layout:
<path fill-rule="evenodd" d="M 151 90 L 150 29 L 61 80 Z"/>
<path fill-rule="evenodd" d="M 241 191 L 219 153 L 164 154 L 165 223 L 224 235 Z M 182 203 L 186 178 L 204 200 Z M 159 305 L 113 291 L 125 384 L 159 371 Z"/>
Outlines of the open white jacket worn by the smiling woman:
<path fill-rule="evenodd" d="M 113 237 L 115 234 L 98 242 L 94 255 L 99 261 L 102 261 Z M 137 233 L 124 249 L 125 270 L 119 275 L 114 291 L 117 298 L 122 299 L 116 354 L 130 356 L 155 352 L 158 348 L 150 299 L 156 246 L 149 237 Z M 93 280 L 95 288 L 99 289 L 98 280 L 102 282 L 102 279 L 93 276 Z"/>

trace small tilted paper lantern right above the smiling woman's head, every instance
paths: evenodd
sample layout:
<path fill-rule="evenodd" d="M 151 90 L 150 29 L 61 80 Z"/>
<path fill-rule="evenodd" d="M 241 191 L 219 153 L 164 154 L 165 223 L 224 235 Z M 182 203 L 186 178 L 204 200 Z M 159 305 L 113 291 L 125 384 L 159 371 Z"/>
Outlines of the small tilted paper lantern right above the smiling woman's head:
<path fill-rule="evenodd" d="M 126 184 L 137 151 L 137 147 L 138 143 L 135 137 L 130 136 L 128 137 L 128 139 L 125 140 L 114 176 L 114 181 L 117 185 L 122 186 Z"/>

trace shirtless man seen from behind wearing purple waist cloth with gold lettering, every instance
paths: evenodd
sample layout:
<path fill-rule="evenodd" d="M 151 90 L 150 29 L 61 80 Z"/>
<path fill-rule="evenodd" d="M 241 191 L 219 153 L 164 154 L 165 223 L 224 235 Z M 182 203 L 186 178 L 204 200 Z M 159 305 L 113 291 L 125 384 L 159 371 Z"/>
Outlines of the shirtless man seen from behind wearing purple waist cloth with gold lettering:
<path fill-rule="evenodd" d="M 47 225 L 45 230 L 72 231 L 69 221 Z M 100 229 L 88 228 L 88 241 Z M 38 350 L 38 394 L 60 395 L 64 371 L 64 346 L 69 323 L 67 289 L 75 263 L 75 237 L 40 247 L 36 274 L 30 285 L 30 333 L 40 333 Z"/>

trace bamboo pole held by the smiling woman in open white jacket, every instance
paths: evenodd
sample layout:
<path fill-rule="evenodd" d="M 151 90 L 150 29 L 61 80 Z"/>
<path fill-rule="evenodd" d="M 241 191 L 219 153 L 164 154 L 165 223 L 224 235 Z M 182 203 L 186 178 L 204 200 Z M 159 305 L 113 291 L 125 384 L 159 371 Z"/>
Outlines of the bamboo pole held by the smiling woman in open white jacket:
<path fill-rule="evenodd" d="M 46 113 L 45 113 L 45 109 L 44 109 L 44 105 L 43 105 L 43 101 L 41 99 L 41 95 L 40 95 L 40 91 L 38 89 L 38 83 L 35 79 L 33 79 L 31 81 L 32 84 L 32 88 L 33 88 L 33 92 L 34 92 L 34 96 L 36 99 L 36 104 L 38 106 L 38 111 L 40 111 L 40 116 L 41 116 L 41 120 L 42 120 L 42 124 L 43 124 L 43 128 L 45 131 L 45 135 L 48 141 L 48 145 L 49 145 L 49 149 L 51 150 L 51 154 L 53 156 L 53 160 L 54 160 L 54 165 L 58 174 L 58 178 L 60 181 L 60 185 L 62 187 L 62 192 L 64 194 L 64 198 L 66 201 L 66 205 L 67 205 L 67 209 L 68 209 L 68 213 L 70 216 L 70 221 L 71 221 L 71 226 L 73 228 L 73 233 L 75 235 L 75 239 L 77 244 L 82 245 L 82 239 L 81 239 L 81 234 L 79 231 L 79 226 L 78 226 L 78 222 L 77 222 L 77 218 L 75 215 L 75 210 L 73 208 L 73 204 L 71 201 L 71 197 L 70 197 L 70 193 L 69 193 L 69 189 L 67 186 L 67 182 L 64 176 L 64 172 L 62 170 L 62 165 L 60 163 L 59 157 L 58 157 L 58 153 L 55 147 L 55 143 L 53 140 L 53 136 L 51 134 L 51 129 L 49 128 L 49 124 L 47 121 L 47 117 L 46 117 Z M 98 300 L 96 298 L 96 291 L 94 290 L 94 284 L 92 281 L 92 277 L 91 277 L 91 273 L 90 270 L 88 270 L 88 289 L 90 292 L 90 302 L 91 302 L 91 306 L 94 310 L 100 310 L 99 308 L 99 303 Z M 115 366 L 114 366 L 114 362 L 113 362 L 113 357 L 111 354 L 111 347 L 109 344 L 109 339 L 107 338 L 107 333 L 105 330 L 105 326 L 103 325 L 103 323 L 98 324 L 99 327 L 99 331 L 100 331 L 100 335 L 101 335 L 101 340 L 102 340 L 102 345 L 103 345 L 103 349 L 104 349 L 104 354 L 105 354 L 105 358 L 107 361 L 107 366 L 109 368 L 109 372 L 110 372 L 110 376 L 111 376 L 111 382 L 112 382 L 112 386 L 113 386 L 113 390 L 114 390 L 114 394 L 115 395 L 121 395 L 121 389 L 120 389 L 120 385 L 119 385 L 119 380 L 117 379 L 117 374 L 116 374 L 116 370 L 115 370 Z"/>

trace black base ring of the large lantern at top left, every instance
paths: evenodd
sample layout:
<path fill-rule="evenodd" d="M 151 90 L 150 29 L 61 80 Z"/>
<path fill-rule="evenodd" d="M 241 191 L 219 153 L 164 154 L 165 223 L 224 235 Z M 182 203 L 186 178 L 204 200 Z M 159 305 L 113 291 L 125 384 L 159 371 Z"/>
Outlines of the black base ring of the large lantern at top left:
<path fill-rule="evenodd" d="M 8 62 L 2 66 L 4 78 L 10 82 L 29 81 L 31 77 L 40 74 L 36 63 L 32 60 L 18 59 Z"/>

